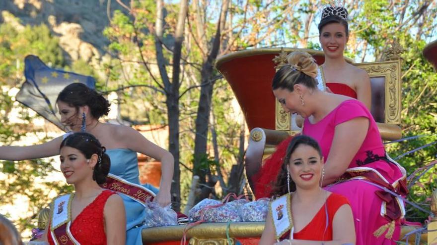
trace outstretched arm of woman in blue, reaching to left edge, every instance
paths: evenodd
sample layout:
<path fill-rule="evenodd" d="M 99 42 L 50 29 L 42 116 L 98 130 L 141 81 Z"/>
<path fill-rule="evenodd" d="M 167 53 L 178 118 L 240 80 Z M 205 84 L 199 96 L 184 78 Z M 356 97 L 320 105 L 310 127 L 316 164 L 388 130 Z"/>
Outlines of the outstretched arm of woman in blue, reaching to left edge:
<path fill-rule="evenodd" d="M 63 137 L 60 136 L 47 143 L 27 147 L 0 147 L 0 159 L 19 161 L 59 155 L 59 146 Z"/>

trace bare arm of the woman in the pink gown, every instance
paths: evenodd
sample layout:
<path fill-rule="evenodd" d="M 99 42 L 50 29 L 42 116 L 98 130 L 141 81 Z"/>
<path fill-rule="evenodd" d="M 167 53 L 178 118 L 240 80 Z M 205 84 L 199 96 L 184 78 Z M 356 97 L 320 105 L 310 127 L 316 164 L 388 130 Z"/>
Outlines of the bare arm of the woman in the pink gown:
<path fill-rule="evenodd" d="M 346 172 L 364 142 L 368 125 L 367 118 L 356 117 L 335 127 L 331 149 L 324 165 L 323 186 L 333 183 Z"/>

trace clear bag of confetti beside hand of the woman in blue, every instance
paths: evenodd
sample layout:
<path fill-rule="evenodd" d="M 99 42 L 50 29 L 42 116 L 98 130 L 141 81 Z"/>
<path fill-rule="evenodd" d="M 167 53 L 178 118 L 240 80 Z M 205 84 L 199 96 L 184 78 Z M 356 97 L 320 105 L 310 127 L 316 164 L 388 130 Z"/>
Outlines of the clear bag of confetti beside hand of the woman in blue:
<path fill-rule="evenodd" d="M 171 205 L 161 207 L 157 202 L 147 202 L 146 227 L 160 227 L 177 225 L 177 213 L 171 209 Z"/>

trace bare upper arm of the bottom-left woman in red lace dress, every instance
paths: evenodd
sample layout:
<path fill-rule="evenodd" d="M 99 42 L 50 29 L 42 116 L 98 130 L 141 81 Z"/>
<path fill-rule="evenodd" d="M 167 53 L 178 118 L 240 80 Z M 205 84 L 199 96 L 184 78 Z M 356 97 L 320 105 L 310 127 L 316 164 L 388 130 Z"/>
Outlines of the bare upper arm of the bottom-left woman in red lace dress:
<path fill-rule="evenodd" d="M 126 212 L 123 200 L 112 195 L 105 203 L 105 234 L 108 245 L 124 245 L 126 243 Z"/>

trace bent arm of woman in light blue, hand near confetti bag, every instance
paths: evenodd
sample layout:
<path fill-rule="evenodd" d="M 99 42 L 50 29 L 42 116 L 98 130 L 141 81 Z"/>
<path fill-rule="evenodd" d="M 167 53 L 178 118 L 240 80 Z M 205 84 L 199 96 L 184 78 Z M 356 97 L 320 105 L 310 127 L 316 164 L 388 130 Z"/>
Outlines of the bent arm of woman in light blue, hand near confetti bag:
<path fill-rule="evenodd" d="M 131 150 L 146 154 L 161 162 L 161 183 L 155 201 L 161 206 L 166 206 L 171 202 L 170 188 L 173 180 L 174 158 L 167 150 L 148 141 L 138 131 L 130 127 L 119 127 L 122 132 L 124 144 Z"/>

